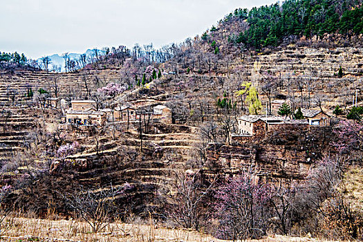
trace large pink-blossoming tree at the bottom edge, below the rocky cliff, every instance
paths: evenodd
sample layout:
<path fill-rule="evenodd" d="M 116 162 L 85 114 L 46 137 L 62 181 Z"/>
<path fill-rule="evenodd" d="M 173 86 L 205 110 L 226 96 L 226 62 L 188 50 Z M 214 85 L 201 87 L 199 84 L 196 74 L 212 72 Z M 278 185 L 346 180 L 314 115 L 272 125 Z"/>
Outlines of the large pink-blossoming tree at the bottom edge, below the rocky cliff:
<path fill-rule="evenodd" d="M 266 235 L 269 187 L 258 184 L 255 178 L 251 171 L 245 171 L 241 176 L 227 180 L 216 192 L 218 237 L 239 240 Z"/>

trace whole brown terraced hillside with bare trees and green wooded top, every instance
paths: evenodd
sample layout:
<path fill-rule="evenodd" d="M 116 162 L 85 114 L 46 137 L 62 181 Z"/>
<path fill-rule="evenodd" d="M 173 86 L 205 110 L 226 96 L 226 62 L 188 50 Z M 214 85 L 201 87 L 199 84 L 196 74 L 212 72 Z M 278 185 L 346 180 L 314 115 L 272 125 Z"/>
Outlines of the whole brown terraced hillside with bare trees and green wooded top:
<path fill-rule="evenodd" d="M 362 103 L 361 7 L 300 0 L 238 9 L 180 45 L 120 46 L 64 73 L 6 62 L 0 207 L 13 217 L 75 218 L 80 229 L 14 218 L 18 227 L 57 228 L 48 235 L 12 227 L 5 236 L 158 241 L 160 232 L 212 239 L 153 229 L 163 226 L 231 240 L 362 239 L 363 127 L 360 115 L 354 122 L 346 115 Z M 69 109 L 75 100 L 93 106 Z M 274 100 L 290 112 L 274 118 L 279 129 L 267 121 Z M 170 116 L 163 120 L 157 106 Z M 299 120 L 301 109 L 323 113 L 330 124 Z M 127 119 L 117 120 L 115 111 L 124 110 Z M 72 111 L 81 113 L 75 123 Z M 104 120 L 85 121 L 93 111 Z M 250 115 L 261 115 L 259 123 L 266 116 L 263 136 L 239 133 L 239 117 Z M 126 228 L 130 234 L 122 234 Z"/>

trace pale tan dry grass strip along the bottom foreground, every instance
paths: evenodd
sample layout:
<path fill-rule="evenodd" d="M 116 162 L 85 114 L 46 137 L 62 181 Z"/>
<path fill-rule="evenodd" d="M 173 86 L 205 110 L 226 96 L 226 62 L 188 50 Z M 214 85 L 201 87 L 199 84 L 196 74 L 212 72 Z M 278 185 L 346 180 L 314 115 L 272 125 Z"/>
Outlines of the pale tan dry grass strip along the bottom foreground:
<path fill-rule="evenodd" d="M 6 222 L 1 226 L 1 229 L 1 241 L 221 241 L 199 232 L 159 228 L 152 224 L 132 225 L 111 223 L 103 232 L 93 233 L 88 224 L 80 221 L 7 218 Z M 318 240 L 270 236 L 259 241 L 302 242 Z"/>

